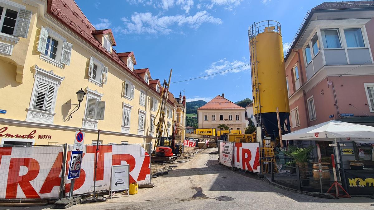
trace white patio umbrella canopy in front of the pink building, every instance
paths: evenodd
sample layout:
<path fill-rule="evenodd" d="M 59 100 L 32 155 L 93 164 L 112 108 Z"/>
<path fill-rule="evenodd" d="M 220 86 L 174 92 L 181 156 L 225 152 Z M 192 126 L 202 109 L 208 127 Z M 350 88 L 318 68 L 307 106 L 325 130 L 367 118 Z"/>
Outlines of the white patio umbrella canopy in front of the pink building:
<path fill-rule="evenodd" d="M 330 120 L 282 135 L 283 140 L 352 141 L 374 143 L 374 127 Z"/>

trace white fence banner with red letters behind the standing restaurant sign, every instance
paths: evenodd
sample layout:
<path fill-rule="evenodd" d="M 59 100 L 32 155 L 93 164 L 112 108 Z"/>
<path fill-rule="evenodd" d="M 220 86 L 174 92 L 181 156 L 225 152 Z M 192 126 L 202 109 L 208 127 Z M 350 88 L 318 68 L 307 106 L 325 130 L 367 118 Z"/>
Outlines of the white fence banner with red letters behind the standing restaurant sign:
<path fill-rule="evenodd" d="M 71 150 L 73 150 L 72 145 L 68 149 L 67 167 L 70 164 Z M 74 183 L 74 195 L 93 192 L 95 153 L 96 145 L 83 146 L 82 166 L 80 176 Z M 96 191 L 109 190 L 111 167 L 116 165 L 129 164 L 130 183 L 148 184 L 151 182 L 150 156 L 138 144 L 99 145 L 97 157 Z M 69 189 L 70 181 L 65 186 L 65 195 L 69 194 Z"/>

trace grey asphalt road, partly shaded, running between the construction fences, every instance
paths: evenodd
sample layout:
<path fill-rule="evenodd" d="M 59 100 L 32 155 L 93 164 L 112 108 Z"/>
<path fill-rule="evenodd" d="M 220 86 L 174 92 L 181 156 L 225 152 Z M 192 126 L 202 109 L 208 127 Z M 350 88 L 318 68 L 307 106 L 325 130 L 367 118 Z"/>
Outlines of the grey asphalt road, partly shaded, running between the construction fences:
<path fill-rule="evenodd" d="M 373 209 L 374 199 L 353 197 L 329 200 L 287 191 L 233 172 L 218 163 L 217 149 L 205 149 L 193 160 L 180 163 L 168 175 L 152 179 L 154 188 L 137 195 L 114 195 L 103 203 L 78 204 L 70 210 L 120 209 Z M 232 201 L 218 201 L 226 196 Z M 48 206 L 52 207 L 52 206 Z M 48 208 L 47 207 L 47 208 Z M 43 207 L 44 208 L 44 207 Z M 33 207 L 28 209 L 43 209 Z"/>

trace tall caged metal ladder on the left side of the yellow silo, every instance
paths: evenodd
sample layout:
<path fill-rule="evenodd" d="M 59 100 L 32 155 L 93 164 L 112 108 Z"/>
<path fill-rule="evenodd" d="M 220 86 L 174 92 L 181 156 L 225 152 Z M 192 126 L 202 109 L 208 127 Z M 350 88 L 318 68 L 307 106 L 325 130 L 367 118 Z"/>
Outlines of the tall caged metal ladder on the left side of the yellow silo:
<path fill-rule="evenodd" d="M 256 24 L 252 24 L 249 27 L 249 45 L 251 48 L 251 71 L 252 71 L 252 86 L 253 86 L 253 95 L 255 100 L 254 108 L 255 108 L 255 124 L 256 127 L 261 127 L 261 105 L 260 105 L 260 83 L 258 82 L 258 69 L 257 69 L 257 52 L 256 52 Z"/>

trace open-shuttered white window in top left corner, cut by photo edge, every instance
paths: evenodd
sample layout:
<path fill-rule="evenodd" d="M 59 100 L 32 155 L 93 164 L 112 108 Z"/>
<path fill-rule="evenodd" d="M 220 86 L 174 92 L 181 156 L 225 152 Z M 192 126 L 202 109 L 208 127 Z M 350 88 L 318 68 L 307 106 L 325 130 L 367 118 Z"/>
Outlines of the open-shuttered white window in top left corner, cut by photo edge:
<path fill-rule="evenodd" d="M 3 0 L 0 6 L 0 32 L 16 37 L 26 38 L 32 12 L 22 4 Z M 10 37 L 12 38 L 12 37 Z M 15 40 L 16 43 L 18 40 Z"/>

